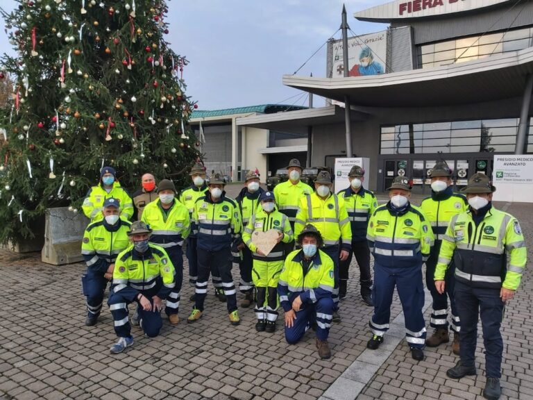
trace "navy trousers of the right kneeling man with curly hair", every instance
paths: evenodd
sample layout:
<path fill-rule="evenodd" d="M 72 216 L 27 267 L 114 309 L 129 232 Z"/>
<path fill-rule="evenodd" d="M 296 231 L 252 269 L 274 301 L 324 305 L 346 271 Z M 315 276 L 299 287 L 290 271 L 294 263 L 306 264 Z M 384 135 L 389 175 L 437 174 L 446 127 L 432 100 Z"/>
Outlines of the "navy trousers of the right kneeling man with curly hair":
<path fill-rule="evenodd" d="M 316 323 L 316 338 L 328 340 L 330 334 L 331 319 L 333 316 L 333 299 L 323 297 L 314 304 L 303 304 L 304 308 L 296 313 L 292 328 L 285 326 L 285 340 L 289 344 L 298 343 L 307 329 Z"/>

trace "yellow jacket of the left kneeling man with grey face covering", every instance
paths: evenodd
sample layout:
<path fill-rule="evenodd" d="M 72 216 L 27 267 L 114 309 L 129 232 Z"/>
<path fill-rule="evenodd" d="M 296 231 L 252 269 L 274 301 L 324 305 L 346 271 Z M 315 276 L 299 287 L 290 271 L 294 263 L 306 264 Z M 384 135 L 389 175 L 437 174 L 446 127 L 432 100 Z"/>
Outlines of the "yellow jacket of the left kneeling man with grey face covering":
<path fill-rule="evenodd" d="M 111 290 L 133 288 L 166 299 L 175 285 L 174 274 L 174 265 L 162 247 L 149 243 L 148 250 L 138 253 L 131 244 L 117 257 Z"/>

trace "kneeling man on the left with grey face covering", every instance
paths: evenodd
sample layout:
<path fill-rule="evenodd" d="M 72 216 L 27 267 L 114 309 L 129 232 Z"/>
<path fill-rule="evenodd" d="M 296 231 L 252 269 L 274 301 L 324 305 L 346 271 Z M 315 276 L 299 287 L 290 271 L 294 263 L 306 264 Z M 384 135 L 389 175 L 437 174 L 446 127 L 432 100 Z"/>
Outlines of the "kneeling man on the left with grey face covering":
<path fill-rule="evenodd" d="M 131 224 L 131 244 L 117 257 L 108 300 L 119 341 L 110 348 L 121 353 L 133 344 L 128 304 L 137 301 L 139 325 L 146 336 L 155 338 L 162 326 L 162 300 L 174 288 L 174 265 L 162 247 L 149 243 L 152 230 L 142 221 Z"/>

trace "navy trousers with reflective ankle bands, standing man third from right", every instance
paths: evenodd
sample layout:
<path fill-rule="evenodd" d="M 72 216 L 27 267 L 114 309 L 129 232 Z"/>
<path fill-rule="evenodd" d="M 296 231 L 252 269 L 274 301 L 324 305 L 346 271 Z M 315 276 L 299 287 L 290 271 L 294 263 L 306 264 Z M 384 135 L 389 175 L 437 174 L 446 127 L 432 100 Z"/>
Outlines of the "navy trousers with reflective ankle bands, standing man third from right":
<path fill-rule="evenodd" d="M 383 336 L 389 329 L 391 319 L 391 303 L 394 287 L 402 303 L 405 317 L 405 338 L 409 347 L 423 349 L 425 344 L 425 321 L 422 314 L 424 306 L 424 286 L 422 282 L 422 266 L 414 267 L 383 267 L 374 264 L 374 287 L 372 301 L 374 315 L 370 321 L 374 335 Z"/>

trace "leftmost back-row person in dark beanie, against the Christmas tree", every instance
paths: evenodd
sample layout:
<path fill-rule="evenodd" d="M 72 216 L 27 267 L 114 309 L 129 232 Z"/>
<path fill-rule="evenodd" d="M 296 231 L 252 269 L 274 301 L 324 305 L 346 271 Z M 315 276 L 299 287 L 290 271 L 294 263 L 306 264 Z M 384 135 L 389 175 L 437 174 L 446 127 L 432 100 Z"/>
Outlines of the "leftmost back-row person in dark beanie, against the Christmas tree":
<path fill-rule="evenodd" d="M 105 199 L 117 199 L 120 202 L 120 215 L 124 219 L 133 216 L 133 200 L 117 181 L 115 168 L 103 167 L 100 171 L 100 182 L 90 188 L 83 200 L 83 213 L 91 222 L 102 219 L 102 207 Z"/>

